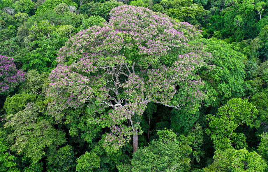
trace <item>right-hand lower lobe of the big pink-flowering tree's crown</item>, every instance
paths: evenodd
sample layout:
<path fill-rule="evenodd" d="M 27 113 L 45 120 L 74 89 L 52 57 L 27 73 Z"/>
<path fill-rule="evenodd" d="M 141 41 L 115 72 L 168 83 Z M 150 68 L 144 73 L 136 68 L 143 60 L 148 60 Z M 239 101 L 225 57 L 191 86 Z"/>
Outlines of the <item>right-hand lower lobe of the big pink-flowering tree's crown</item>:
<path fill-rule="evenodd" d="M 188 53 L 178 56 L 172 66 L 161 66 L 160 69 L 150 69 L 148 71 L 147 93 L 153 101 L 159 101 L 167 105 L 175 94 L 179 94 L 176 87 L 184 94 L 180 96 L 176 103 L 187 104 L 187 101 L 198 102 L 204 98 L 204 93 L 200 87 L 204 83 L 195 74 L 198 68 L 206 65 L 203 58 L 196 53 Z"/>

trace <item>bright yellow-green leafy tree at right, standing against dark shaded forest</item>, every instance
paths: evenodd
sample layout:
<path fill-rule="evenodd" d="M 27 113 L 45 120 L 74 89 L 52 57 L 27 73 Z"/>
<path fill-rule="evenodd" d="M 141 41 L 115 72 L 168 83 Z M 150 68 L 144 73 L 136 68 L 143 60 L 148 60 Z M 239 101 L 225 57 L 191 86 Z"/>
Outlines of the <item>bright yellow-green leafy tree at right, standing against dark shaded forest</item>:
<path fill-rule="evenodd" d="M 227 149 L 234 146 L 237 149 L 247 147 L 246 136 L 236 133 L 240 125 L 254 126 L 253 120 L 258 115 L 254 105 L 247 99 L 234 98 L 227 101 L 227 104 L 218 109 L 216 116 L 207 115 L 209 120 L 210 135 L 216 149 Z"/>

